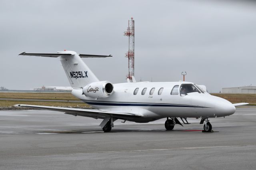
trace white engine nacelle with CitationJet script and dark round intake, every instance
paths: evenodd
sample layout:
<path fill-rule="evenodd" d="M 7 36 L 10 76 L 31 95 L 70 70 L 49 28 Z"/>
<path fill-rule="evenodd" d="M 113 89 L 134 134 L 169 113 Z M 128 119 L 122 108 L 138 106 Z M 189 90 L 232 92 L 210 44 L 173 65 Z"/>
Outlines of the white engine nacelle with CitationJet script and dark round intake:
<path fill-rule="evenodd" d="M 90 83 L 83 88 L 84 95 L 95 99 L 109 97 L 113 92 L 114 86 L 109 81 L 98 81 Z"/>

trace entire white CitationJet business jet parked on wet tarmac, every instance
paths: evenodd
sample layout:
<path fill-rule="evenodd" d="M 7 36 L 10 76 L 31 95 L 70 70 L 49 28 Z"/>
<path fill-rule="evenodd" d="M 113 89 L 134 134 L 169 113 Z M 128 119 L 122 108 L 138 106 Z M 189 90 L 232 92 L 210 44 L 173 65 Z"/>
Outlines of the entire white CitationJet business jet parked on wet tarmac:
<path fill-rule="evenodd" d="M 167 118 L 165 128 L 172 130 L 175 124 L 182 125 L 178 118 L 189 124 L 187 118 L 201 118 L 204 131 L 210 132 L 209 118 L 225 117 L 235 113 L 235 106 L 220 97 L 206 92 L 204 85 L 191 82 L 136 82 L 112 84 L 99 81 L 81 57 L 112 57 L 112 55 L 87 55 L 74 51 L 57 53 L 20 53 L 42 57 L 59 57 L 73 90 L 72 95 L 94 109 L 76 109 L 37 105 L 16 105 L 36 109 L 60 111 L 74 116 L 103 119 L 100 123 L 104 132 L 114 127 L 114 121 L 122 119 L 137 123 L 148 123 Z M 183 125 L 182 125 L 183 126 Z"/>

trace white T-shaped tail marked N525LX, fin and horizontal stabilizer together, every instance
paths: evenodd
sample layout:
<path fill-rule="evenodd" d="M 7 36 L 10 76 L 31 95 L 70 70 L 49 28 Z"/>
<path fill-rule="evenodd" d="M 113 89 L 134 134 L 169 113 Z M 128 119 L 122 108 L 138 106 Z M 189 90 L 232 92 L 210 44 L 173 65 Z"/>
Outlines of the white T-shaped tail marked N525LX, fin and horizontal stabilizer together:
<path fill-rule="evenodd" d="M 112 55 L 78 54 L 74 51 L 58 51 L 57 53 L 20 53 L 19 55 L 32 55 L 42 57 L 60 57 L 62 67 L 73 88 L 81 88 L 89 83 L 99 81 L 81 57 L 112 57 Z"/>

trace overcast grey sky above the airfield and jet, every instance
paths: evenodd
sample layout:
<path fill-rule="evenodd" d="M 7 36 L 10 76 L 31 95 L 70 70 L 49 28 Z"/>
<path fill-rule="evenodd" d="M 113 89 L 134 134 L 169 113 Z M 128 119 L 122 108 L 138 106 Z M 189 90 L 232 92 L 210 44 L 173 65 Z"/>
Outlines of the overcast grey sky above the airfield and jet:
<path fill-rule="evenodd" d="M 0 0 L 0 86 L 70 86 L 58 58 L 18 56 L 64 49 L 85 54 L 100 80 L 125 82 L 128 19 L 135 20 L 135 77 L 222 87 L 256 85 L 256 4 L 208 0 Z"/>

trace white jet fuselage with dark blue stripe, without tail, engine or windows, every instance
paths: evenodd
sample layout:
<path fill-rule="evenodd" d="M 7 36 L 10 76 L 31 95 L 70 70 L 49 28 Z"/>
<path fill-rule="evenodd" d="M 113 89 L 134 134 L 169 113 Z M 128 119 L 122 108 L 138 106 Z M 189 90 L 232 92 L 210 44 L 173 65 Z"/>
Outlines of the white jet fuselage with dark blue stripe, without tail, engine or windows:
<path fill-rule="evenodd" d="M 82 94 L 82 89 L 74 89 L 72 94 L 95 109 L 141 115 L 141 118 L 129 120 L 135 122 L 155 121 L 164 117 L 224 117 L 235 112 L 236 109 L 232 103 L 207 92 L 181 95 L 182 84 L 194 85 L 190 82 L 118 83 L 114 84 L 114 93 L 106 98 L 87 97 Z M 171 95 L 176 85 L 178 85 L 178 94 Z M 135 95 L 136 88 L 138 91 Z M 147 89 L 143 94 L 142 91 L 145 88 Z M 163 88 L 162 93 L 159 93 L 161 88 Z"/>

